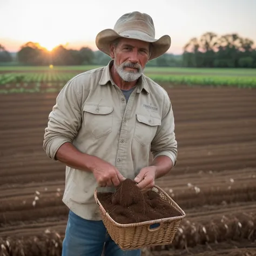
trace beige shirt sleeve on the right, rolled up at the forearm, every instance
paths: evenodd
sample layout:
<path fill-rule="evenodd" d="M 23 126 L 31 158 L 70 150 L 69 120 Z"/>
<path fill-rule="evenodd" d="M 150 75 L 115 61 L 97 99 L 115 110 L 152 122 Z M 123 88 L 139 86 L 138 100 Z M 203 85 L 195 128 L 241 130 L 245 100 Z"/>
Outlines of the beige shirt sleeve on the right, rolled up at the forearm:
<path fill-rule="evenodd" d="M 153 159 L 158 156 L 167 156 L 172 160 L 173 167 L 177 164 L 177 141 L 174 133 L 174 116 L 169 96 L 164 99 L 164 114 L 161 125 L 151 143 Z"/>

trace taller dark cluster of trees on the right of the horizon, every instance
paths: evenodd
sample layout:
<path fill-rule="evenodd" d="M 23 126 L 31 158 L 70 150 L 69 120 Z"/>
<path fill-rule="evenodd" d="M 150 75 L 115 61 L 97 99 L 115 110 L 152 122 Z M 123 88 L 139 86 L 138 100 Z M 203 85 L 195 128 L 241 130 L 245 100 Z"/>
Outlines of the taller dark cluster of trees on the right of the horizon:
<path fill-rule="evenodd" d="M 254 42 L 237 33 L 218 36 L 204 33 L 185 46 L 183 66 L 193 68 L 256 68 Z"/>

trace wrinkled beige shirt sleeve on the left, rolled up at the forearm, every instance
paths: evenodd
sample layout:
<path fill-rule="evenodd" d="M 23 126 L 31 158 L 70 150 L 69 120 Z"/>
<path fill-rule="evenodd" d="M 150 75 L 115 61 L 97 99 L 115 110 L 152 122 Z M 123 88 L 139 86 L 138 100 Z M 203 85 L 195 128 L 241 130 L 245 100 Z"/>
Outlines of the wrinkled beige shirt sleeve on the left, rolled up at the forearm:
<path fill-rule="evenodd" d="M 66 142 L 73 142 L 80 120 L 80 94 L 76 91 L 75 79 L 72 79 L 59 92 L 56 104 L 49 114 L 43 140 L 43 149 L 49 158 L 56 160 L 59 147 Z"/>

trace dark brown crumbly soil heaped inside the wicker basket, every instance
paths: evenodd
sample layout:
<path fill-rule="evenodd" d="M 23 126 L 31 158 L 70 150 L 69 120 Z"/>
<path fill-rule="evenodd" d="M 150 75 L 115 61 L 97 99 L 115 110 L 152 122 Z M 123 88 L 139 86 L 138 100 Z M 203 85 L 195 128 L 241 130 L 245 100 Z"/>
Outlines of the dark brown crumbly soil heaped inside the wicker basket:
<path fill-rule="evenodd" d="M 97 193 L 97 198 L 110 217 L 119 224 L 181 216 L 157 192 L 151 190 L 143 193 L 131 179 L 125 179 L 114 193 Z"/>

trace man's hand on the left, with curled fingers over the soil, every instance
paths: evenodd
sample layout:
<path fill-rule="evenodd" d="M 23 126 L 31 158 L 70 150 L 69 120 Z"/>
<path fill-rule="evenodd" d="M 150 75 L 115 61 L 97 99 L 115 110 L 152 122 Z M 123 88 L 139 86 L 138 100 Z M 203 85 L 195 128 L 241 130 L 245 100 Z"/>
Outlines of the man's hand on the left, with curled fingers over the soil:
<path fill-rule="evenodd" d="M 100 187 L 117 187 L 121 181 L 125 180 L 117 168 L 112 164 L 107 163 L 107 161 L 96 157 L 93 159 L 93 162 L 91 171 Z"/>

